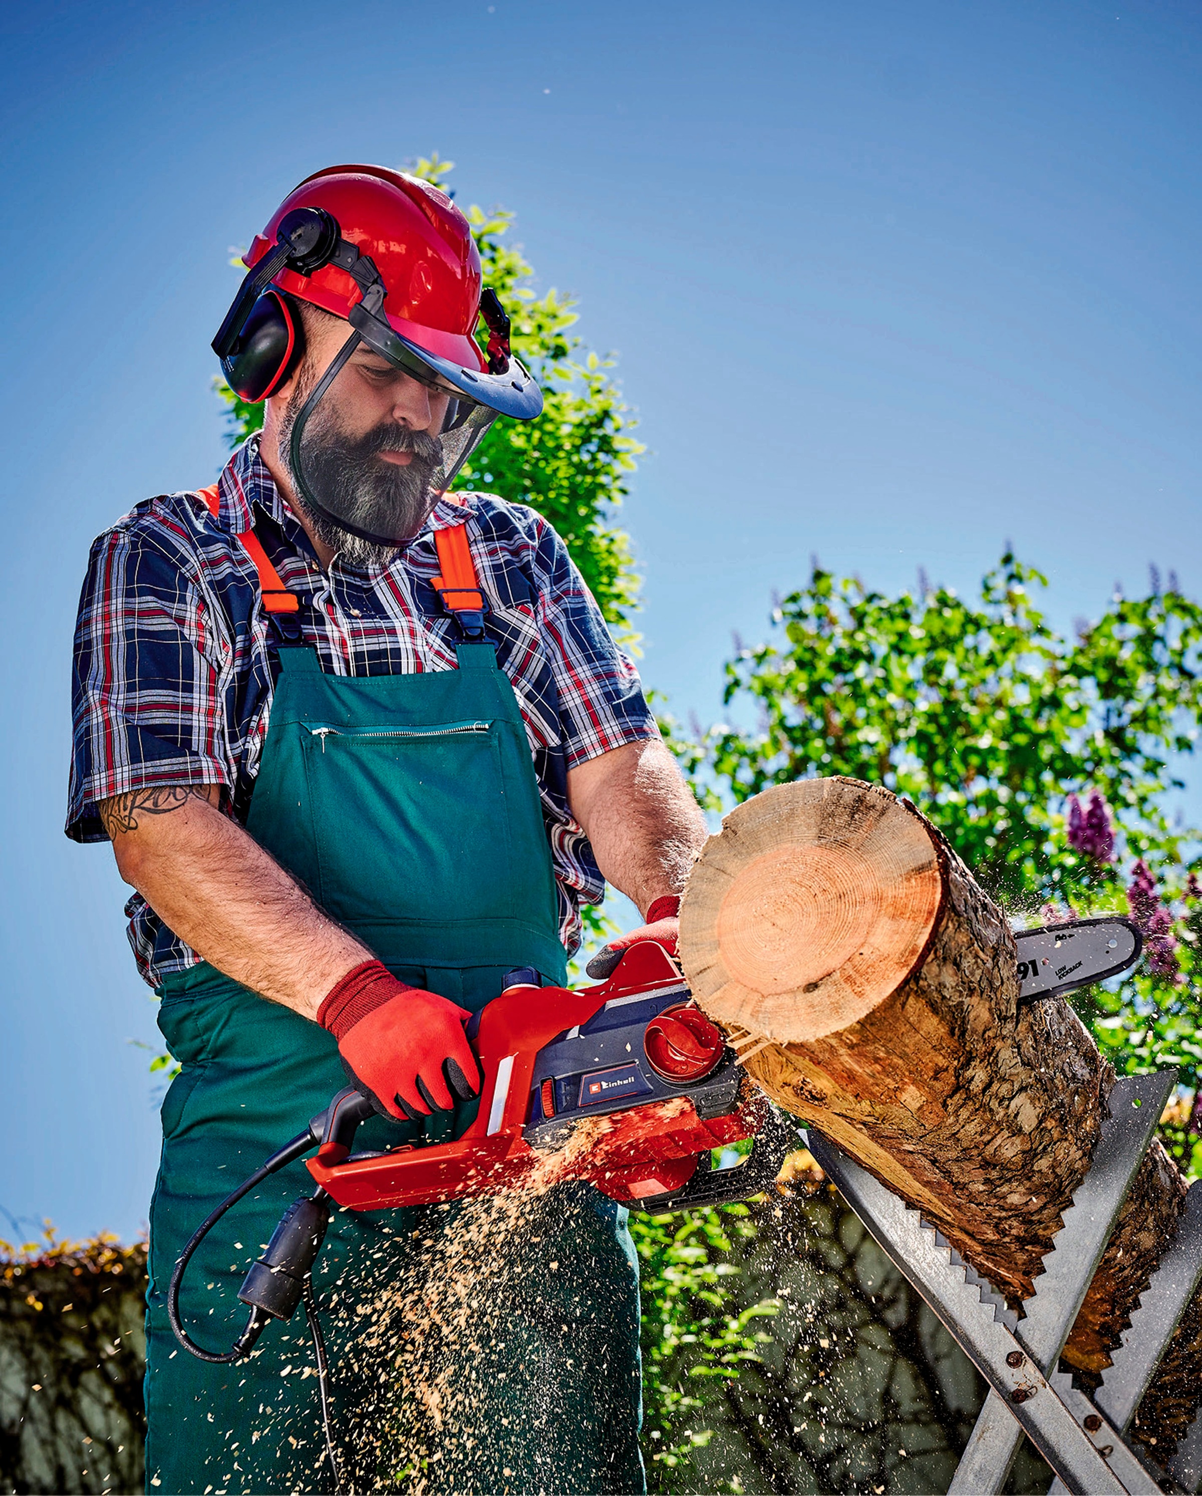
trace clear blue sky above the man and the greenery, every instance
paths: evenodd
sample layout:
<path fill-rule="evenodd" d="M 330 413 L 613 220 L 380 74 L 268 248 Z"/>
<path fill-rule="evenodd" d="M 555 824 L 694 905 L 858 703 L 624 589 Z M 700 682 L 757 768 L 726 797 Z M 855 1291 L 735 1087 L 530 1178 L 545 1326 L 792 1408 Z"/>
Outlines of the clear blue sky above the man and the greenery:
<path fill-rule="evenodd" d="M 61 835 L 70 630 L 91 537 L 214 477 L 229 251 L 296 181 L 439 150 L 516 209 L 650 446 L 644 676 L 713 720 L 811 554 L 967 589 L 1012 539 L 1066 624 L 1150 561 L 1198 594 L 1201 55 L 1184 0 L 4 7 L 0 1207 L 145 1219 L 154 1007 Z"/>

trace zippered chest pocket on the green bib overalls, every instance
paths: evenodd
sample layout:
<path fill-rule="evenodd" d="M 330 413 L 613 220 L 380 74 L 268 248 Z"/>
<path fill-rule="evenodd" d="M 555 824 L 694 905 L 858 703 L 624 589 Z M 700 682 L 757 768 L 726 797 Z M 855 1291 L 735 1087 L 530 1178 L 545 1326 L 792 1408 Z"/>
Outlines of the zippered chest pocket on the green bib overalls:
<path fill-rule="evenodd" d="M 497 723 L 302 729 L 320 904 L 349 925 L 504 917 L 509 797 Z"/>

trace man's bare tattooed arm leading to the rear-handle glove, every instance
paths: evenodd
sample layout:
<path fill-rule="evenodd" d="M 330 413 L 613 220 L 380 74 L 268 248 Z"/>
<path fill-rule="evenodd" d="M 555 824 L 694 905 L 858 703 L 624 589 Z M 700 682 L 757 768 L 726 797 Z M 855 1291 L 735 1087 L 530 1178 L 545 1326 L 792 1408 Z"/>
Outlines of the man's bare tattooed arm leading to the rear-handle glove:
<path fill-rule="evenodd" d="M 216 808 L 217 794 L 216 785 L 159 785 L 102 802 L 117 866 L 199 956 L 311 1019 L 371 951 Z"/>

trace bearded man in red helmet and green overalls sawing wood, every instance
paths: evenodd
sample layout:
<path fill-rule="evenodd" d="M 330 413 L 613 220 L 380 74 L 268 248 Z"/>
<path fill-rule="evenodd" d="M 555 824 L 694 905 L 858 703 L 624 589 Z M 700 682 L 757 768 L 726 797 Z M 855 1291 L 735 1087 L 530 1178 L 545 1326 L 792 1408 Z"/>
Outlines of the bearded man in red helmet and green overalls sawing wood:
<path fill-rule="evenodd" d="M 671 945 L 704 838 L 560 539 L 524 506 L 446 494 L 497 414 L 540 410 L 463 214 L 413 178 L 331 168 L 247 263 L 214 349 L 266 401 L 262 434 L 214 489 L 139 504 L 96 542 L 75 645 L 67 832 L 112 841 L 183 1067 L 151 1204 L 160 1493 L 337 1480 L 302 1331 L 272 1324 L 222 1364 L 172 1337 L 168 1281 L 196 1225 L 347 1074 L 380 1113 L 361 1146 L 464 1126 L 469 1014 L 515 966 L 564 978 L 603 878 L 650 923 L 602 968 L 638 935 Z M 307 1179 L 290 1165 L 205 1239 L 181 1315 L 208 1351 L 232 1343 L 242 1273 Z M 504 1333 L 449 1348 L 478 1406 L 427 1489 L 642 1489 L 626 1212 L 579 1185 L 549 1209 L 548 1231 L 515 1233 Z M 392 1361 L 362 1354 L 362 1310 L 419 1246 L 437 1260 L 440 1231 L 454 1212 L 344 1212 L 317 1261 L 334 1421 L 358 1415 L 367 1442 Z"/>

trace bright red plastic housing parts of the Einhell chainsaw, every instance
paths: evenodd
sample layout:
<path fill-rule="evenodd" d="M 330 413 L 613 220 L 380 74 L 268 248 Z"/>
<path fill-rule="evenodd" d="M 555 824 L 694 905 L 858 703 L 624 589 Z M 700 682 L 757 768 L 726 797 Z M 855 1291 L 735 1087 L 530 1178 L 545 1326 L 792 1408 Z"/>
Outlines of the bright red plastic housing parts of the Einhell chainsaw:
<path fill-rule="evenodd" d="M 608 1004 L 621 1008 L 641 995 L 681 990 L 680 969 L 651 941 L 632 945 L 596 986 L 509 987 L 481 1013 L 475 1040 L 483 1070 L 481 1109 L 461 1138 L 364 1158 L 346 1158 L 344 1149 L 323 1144 L 308 1171 L 352 1210 L 437 1204 L 564 1179 L 588 1180 L 621 1201 L 680 1189 L 702 1155 L 754 1135 L 759 1101 L 741 1095 L 724 1115 L 702 1118 L 681 1086 L 669 1098 L 635 1098 L 629 1107 L 584 1119 L 582 1137 L 554 1155 L 531 1147 L 522 1134 L 531 1118 L 534 1061 L 545 1046 Z"/>

